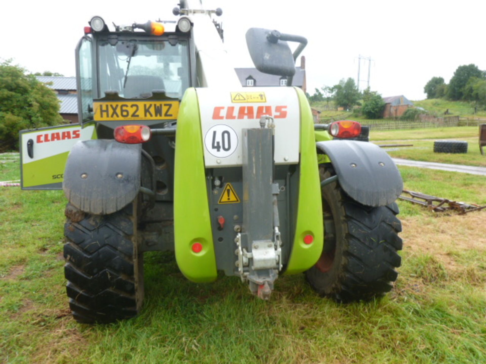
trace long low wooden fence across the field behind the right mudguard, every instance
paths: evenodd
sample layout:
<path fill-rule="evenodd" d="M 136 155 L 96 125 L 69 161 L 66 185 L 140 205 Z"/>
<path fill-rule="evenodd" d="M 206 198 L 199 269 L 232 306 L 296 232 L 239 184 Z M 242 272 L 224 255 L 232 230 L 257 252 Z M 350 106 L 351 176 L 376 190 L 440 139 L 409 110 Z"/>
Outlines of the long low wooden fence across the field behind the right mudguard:
<path fill-rule="evenodd" d="M 444 128 L 458 126 L 459 116 L 438 117 L 424 120 L 360 120 L 360 123 L 361 125 L 369 126 L 372 131 Z"/>

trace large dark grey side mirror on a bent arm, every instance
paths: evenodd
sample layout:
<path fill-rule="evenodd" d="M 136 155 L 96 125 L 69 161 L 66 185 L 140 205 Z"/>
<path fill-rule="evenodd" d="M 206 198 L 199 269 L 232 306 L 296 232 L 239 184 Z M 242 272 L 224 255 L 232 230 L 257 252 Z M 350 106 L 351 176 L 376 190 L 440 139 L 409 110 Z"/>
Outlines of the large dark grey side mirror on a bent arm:
<path fill-rule="evenodd" d="M 287 41 L 300 43 L 294 54 Z M 253 64 L 260 72 L 292 77 L 295 74 L 295 60 L 307 45 L 307 39 L 276 30 L 250 28 L 246 32 L 246 45 Z M 292 79 L 289 78 L 289 81 Z M 287 85 L 290 84 L 287 82 Z"/>

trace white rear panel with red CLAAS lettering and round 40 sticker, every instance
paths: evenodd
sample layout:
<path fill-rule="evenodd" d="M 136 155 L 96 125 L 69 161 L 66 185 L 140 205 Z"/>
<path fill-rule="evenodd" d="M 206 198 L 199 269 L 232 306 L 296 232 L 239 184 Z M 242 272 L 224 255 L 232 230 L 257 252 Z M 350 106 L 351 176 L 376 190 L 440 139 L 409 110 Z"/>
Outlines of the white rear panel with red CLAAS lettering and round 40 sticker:
<path fill-rule="evenodd" d="M 293 87 L 221 90 L 197 88 L 206 167 L 243 163 L 243 129 L 260 128 L 260 116 L 275 122 L 275 164 L 297 164 L 300 105 Z"/>

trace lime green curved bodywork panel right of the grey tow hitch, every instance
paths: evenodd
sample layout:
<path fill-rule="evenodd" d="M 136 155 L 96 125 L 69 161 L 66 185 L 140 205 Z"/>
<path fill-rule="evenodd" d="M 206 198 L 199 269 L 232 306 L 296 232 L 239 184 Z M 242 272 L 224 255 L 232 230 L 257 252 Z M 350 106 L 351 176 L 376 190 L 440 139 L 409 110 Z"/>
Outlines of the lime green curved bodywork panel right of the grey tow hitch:
<path fill-rule="evenodd" d="M 294 245 L 286 274 L 301 273 L 314 265 L 324 245 L 321 185 L 315 150 L 314 123 L 311 107 L 301 89 L 295 88 L 300 102 L 300 176 L 297 222 Z M 325 132 L 327 134 L 327 132 Z M 329 134 L 328 134 L 329 135 Z M 314 237 L 312 244 L 304 243 L 304 236 Z"/>

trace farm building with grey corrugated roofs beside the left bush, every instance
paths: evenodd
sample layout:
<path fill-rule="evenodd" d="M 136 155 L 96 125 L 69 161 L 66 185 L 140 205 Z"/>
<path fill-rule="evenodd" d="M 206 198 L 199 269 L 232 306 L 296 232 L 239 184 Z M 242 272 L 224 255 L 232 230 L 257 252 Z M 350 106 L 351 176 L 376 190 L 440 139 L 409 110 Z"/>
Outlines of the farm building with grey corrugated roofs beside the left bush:
<path fill-rule="evenodd" d="M 78 100 L 76 96 L 76 77 L 48 77 L 36 76 L 37 80 L 46 83 L 53 89 L 61 101 L 59 114 L 63 119 L 72 123 L 78 122 Z M 52 83 L 52 84 L 47 84 Z"/>

